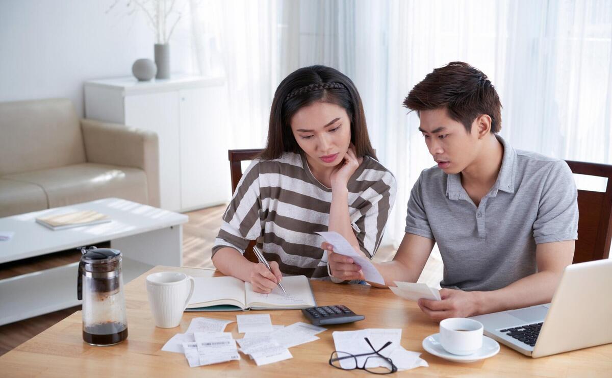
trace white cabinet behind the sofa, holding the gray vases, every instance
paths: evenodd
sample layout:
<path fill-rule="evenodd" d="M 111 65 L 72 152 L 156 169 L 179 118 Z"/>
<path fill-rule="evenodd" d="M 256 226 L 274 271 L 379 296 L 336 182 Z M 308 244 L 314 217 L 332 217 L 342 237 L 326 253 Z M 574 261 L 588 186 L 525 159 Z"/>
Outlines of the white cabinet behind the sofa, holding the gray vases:
<path fill-rule="evenodd" d="M 214 206 L 231 197 L 226 98 L 223 78 L 85 83 L 86 117 L 157 133 L 161 207 L 174 211 Z"/>

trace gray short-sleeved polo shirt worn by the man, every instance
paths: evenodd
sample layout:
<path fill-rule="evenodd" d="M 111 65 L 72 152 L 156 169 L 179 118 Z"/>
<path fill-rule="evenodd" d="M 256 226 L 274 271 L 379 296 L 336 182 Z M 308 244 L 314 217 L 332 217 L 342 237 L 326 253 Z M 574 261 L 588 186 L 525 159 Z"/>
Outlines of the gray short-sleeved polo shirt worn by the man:
<path fill-rule="evenodd" d="M 535 245 L 578 239 L 578 193 L 567 163 L 497 138 L 501 170 L 479 206 L 460 174 L 437 166 L 421 172 L 412 188 L 406 232 L 438 243 L 442 287 L 500 289 L 537 271 Z"/>

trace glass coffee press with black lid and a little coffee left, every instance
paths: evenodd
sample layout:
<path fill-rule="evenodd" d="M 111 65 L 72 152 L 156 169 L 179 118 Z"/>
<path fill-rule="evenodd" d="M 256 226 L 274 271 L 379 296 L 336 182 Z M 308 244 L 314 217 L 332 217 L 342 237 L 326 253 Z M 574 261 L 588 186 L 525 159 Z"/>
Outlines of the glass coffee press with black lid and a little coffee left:
<path fill-rule="evenodd" d="M 83 300 L 83 340 L 109 346 L 127 339 L 121 252 L 81 248 L 77 294 Z"/>

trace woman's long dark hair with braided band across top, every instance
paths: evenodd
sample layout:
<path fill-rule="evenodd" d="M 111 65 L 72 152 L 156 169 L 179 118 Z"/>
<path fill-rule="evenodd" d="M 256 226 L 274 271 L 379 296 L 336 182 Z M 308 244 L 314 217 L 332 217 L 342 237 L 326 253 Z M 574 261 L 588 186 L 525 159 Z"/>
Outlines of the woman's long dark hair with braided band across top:
<path fill-rule="evenodd" d="M 272 160 L 280 158 L 283 152 L 299 153 L 301 149 L 291 131 L 291 118 L 300 108 L 315 102 L 344 108 L 351 120 L 351 142 L 357 157 L 376 158 L 355 84 L 340 71 L 324 65 L 301 68 L 280 82 L 272 100 L 267 145 L 259 157 Z"/>

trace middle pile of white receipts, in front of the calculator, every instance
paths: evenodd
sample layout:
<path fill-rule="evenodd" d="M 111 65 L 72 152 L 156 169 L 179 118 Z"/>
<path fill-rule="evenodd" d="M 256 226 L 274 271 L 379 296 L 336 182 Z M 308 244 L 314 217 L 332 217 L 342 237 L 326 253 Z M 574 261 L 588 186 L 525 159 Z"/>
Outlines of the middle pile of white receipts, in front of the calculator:
<path fill-rule="evenodd" d="M 261 317 L 261 320 L 263 320 L 264 316 L 269 319 L 267 314 L 236 316 L 239 332 L 246 331 L 244 338 L 237 340 L 240 344 L 240 351 L 255 360 L 258 366 L 293 358 L 291 352 L 289 352 L 290 347 L 318 340 L 319 338 L 315 335 L 326 330 L 326 328 L 303 322 L 282 327 L 272 325 L 268 320 L 269 323 L 266 325 L 259 322 L 258 328 L 253 332 L 250 324 L 257 322 L 257 319 L 244 319 L 244 317 Z M 249 325 L 241 327 L 241 324 L 244 324 L 245 321 Z"/>

